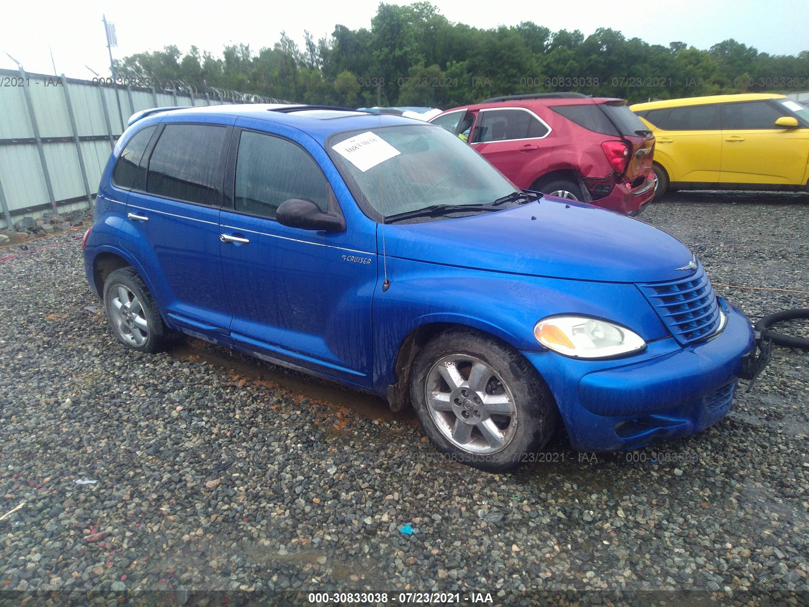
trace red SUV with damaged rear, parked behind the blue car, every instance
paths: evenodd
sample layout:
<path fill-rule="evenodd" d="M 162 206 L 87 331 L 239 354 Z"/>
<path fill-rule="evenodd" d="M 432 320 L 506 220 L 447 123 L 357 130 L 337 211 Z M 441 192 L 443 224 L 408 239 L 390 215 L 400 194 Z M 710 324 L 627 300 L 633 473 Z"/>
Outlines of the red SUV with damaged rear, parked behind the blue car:
<path fill-rule="evenodd" d="M 634 215 L 654 197 L 654 137 L 626 100 L 581 93 L 493 97 L 430 122 L 515 185 Z"/>

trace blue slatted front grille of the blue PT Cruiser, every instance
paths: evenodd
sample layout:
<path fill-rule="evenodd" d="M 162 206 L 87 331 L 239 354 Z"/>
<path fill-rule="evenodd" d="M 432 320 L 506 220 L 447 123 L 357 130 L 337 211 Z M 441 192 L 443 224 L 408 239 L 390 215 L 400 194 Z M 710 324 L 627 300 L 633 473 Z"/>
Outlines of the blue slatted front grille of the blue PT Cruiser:
<path fill-rule="evenodd" d="M 700 263 L 688 278 L 638 287 L 683 346 L 709 337 L 719 326 L 719 304 Z"/>

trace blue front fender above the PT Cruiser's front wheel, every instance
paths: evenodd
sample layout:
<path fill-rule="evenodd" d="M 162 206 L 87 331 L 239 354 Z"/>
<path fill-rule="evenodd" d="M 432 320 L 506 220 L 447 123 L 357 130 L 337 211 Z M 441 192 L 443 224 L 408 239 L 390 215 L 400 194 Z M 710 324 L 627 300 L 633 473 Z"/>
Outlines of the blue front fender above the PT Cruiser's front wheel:
<path fill-rule="evenodd" d="M 381 265 L 381 260 L 380 260 Z M 489 333 L 516 350 L 544 351 L 533 334 L 545 316 L 578 313 L 612 320 L 647 342 L 668 331 L 633 284 L 540 278 L 388 257 L 387 291 L 373 302 L 374 389 L 396 383 L 405 337 L 434 323 Z"/>

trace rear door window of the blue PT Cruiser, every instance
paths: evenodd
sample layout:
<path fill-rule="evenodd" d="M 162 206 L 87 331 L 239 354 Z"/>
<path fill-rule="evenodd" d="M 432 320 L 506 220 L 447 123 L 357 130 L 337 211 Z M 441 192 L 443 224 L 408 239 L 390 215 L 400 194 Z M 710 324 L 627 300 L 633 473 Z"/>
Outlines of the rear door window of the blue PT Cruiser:
<path fill-rule="evenodd" d="M 166 125 L 149 160 L 146 192 L 174 200 L 218 205 L 219 159 L 227 128 Z"/>

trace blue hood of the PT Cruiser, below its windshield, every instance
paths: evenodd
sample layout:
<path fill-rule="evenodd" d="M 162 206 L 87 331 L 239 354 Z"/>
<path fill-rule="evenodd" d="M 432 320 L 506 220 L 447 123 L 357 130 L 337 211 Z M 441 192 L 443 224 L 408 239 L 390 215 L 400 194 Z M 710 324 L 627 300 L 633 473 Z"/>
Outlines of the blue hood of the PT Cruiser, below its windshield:
<path fill-rule="evenodd" d="M 648 223 L 580 202 L 385 226 L 388 256 L 463 268 L 604 282 L 684 278 L 691 251 Z M 382 230 L 377 231 L 383 251 Z"/>

